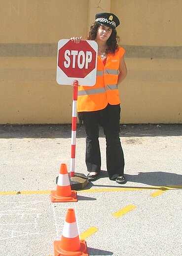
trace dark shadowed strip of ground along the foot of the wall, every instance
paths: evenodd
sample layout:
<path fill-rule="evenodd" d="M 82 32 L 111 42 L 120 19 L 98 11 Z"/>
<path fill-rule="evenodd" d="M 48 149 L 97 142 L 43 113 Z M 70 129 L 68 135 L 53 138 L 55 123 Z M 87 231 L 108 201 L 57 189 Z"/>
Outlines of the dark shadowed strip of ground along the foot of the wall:
<path fill-rule="evenodd" d="M 120 125 L 120 136 L 182 136 L 182 124 L 127 124 Z M 72 125 L 0 125 L 0 138 L 71 138 Z M 77 125 L 77 138 L 85 137 L 83 125 Z M 105 137 L 100 127 L 100 137 Z"/>

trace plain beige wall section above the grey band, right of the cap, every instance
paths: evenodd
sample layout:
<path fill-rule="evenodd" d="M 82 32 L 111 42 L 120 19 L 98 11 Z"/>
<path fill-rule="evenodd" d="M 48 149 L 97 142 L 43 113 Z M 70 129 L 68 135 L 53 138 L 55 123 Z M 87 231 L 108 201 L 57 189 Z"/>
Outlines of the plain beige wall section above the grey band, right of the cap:
<path fill-rule="evenodd" d="M 181 0 L 111 0 L 111 10 L 124 44 L 182 46 Z"/>

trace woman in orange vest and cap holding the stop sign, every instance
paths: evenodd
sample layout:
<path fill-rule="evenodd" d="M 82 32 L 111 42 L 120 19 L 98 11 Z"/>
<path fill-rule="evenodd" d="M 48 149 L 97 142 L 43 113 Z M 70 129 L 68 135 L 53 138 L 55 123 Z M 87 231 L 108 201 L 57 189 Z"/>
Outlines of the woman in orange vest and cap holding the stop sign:
<path fill-rule="evenodd" d="M 118 46 L 115 28 L 120 24 L 113 13 L 96 14 L 87 40 L 98 44 L 97 80 L 94 86 L 79 86 L 77 111 L 86 131 L 87 177 L 97 179 L 101 171 L 101 153 L 99 146 L 99 125 L 106 136 L 107 171 L 110 180 L 122 184 L 124 177 L 124 156 L 119 138 L 120 99 L 118 84 L 127 75 L 124 61 L 125 50 Z M 81 37 L 73 37 L 79 43 Z"/>

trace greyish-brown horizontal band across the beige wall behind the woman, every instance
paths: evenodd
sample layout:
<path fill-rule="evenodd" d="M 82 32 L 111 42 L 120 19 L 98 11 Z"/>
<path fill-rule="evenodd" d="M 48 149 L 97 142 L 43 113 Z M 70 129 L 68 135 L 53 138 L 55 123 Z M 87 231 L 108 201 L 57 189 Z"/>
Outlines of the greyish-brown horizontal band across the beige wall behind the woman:
<path fill-rule="evenodd" d="M 182 59 L 182 46 L 122 45 L 127 58 Z M 57 43 L 0 43 L 0 57 L 53 57 Z"/>

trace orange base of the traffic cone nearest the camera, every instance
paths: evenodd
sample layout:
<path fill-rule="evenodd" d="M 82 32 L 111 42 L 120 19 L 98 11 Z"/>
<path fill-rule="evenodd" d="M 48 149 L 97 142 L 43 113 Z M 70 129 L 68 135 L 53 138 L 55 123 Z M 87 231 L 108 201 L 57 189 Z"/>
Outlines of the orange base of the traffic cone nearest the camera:
<path fill-rule="evenodd" d="M 59 248 L 60 241 L 54 241 L 54 256 L 89 256 L 85 240 L 80 240 L 80 251 L 70 252 Z"/>

